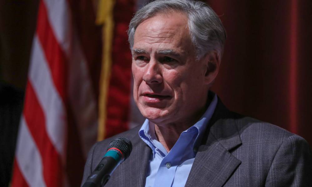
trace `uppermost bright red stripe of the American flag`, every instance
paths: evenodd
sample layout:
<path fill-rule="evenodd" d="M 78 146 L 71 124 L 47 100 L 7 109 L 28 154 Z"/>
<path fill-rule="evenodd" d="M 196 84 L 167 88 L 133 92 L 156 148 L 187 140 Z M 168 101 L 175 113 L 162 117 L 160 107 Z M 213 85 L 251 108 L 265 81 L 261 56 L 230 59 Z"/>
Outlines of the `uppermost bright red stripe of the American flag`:
<path fill-rule="evenodd" d="M 49 23 L 47 10 L 44 2 L 41 0 L 38 10 L 37 35 L 44 50 L 47 63 L 50 67 L 53 82 L 56 90 L 65 102 L 66 83 L 67 83 L 67 60 L 56 40 L 54 32 Z"/>

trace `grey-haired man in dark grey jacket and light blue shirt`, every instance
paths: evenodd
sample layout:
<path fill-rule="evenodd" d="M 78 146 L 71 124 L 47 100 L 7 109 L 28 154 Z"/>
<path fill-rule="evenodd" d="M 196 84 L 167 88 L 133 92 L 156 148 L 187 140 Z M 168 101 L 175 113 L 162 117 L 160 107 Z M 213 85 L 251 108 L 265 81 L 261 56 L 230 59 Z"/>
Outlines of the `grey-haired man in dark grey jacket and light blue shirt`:
<path fill-rule="evenodd" d="M 203 2 L 157 0 L 129 25 L 134 100 L 146 121 L 105 186 L 311 186 L 307 142 L 228 111 L 209 91 L 225 30 Z M 115 137 L 95 144 L 84 179 Z"/>

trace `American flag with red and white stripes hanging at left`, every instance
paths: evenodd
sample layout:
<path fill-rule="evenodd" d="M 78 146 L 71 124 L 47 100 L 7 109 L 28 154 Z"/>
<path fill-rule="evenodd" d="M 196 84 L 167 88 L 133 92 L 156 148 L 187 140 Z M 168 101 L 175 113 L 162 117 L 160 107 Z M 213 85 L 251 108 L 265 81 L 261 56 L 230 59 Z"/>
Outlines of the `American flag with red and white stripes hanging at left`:
<path fill-rule="evenodd" d="M 91 1 L 75 3 L 92 13 Z M 96 141 L 93 62 L 87 61 L 73 7 L 69 0 L 39 1 L 12 187 L 78 186 L 84 159 Z M 74 146 L 79 151 L 68 151 Z M 75 163 L 77 170 L 70 168 Z"/>

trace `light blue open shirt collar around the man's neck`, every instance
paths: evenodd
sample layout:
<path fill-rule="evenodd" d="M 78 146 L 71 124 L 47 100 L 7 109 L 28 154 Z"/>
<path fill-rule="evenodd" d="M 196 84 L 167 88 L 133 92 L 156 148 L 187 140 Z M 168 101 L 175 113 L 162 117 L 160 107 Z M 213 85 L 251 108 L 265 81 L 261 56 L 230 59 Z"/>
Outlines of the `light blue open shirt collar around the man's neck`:
<path fill-rule="evenodd" d="M 202 117 L 190 128 L 185 130 L 184 132 L 197 131 L 197 137 L 193 143 L 193 150 L 197 150 L 197 147 L 200 145 L 200 141 L 202 140 L 202 136 L 205 132 L 206 126 L 214 113 L 214 110 L 217 106 L 217 94 L 213 92 L 209 92 L 208 97 L 212 98 L 211 103 L 209 104 L 207 110 L 202 115 Z M 146 119 L 139 130 L 140 138 L 152 149 L 153 154 L 155 154 L 155 145 L 153 144 L 153 140 L 156 140 L 155 128 L 150 127 L 149 120 Z"/>

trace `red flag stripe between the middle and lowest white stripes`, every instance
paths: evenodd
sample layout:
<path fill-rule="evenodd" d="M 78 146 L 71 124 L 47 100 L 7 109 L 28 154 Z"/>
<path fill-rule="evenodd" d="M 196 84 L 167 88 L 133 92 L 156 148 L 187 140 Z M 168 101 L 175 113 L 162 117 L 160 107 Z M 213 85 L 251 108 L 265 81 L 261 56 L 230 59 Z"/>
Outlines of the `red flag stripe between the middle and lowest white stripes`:
<path fill-rule="evenodd" d="M 47 187 L 63 186 L 61 159 L 48 137 L 45 115 L 29 81 L 27 81 L 23 113 L 42 158 L 43 175 Z"/>

